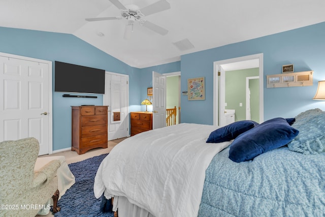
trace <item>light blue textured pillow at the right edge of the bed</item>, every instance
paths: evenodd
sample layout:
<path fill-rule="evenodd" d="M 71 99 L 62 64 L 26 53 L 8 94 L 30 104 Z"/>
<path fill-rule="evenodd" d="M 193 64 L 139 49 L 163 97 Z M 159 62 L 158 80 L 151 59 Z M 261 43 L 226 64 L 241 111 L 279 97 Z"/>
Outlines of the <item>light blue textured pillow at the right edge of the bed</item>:
<path fill-rule="evenodd" d="M 304 154 L 325 151 L 325 112 L 311 109 L 296 116 L 293 127 L 299 135 L 290 143 L 288 149 Z"/>

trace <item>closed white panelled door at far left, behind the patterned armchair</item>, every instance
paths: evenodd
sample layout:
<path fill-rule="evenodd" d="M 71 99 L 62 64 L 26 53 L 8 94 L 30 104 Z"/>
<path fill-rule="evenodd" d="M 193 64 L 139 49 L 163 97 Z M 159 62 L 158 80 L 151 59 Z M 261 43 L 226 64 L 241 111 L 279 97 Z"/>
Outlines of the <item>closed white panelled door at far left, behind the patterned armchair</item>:
<path fill-rule="evenodd" d="M 52 62 L 0 53 L 0 141 L 34 137 L 52 153 Z"/>

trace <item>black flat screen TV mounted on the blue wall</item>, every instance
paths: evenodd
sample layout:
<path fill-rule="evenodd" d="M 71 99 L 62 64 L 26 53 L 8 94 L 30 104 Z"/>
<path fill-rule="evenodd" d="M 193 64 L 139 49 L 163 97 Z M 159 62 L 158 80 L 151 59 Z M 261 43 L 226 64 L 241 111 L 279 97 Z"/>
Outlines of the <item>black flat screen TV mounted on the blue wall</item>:
<path fill-rule="evenodd" d="M 55 61 L 54 90 L 105 94 L 105 70 Z"/>

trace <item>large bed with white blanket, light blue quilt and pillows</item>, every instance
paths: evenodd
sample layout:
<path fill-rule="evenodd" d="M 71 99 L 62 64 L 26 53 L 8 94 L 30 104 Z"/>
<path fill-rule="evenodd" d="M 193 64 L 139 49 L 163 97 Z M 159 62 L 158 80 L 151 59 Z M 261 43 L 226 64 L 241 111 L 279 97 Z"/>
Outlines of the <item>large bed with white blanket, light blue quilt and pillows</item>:
<path fill-rule="evenodd" d="M 116 145 L 94 195 L 123 216 L 324 216 L 325 112 L 181 123 Z"/>

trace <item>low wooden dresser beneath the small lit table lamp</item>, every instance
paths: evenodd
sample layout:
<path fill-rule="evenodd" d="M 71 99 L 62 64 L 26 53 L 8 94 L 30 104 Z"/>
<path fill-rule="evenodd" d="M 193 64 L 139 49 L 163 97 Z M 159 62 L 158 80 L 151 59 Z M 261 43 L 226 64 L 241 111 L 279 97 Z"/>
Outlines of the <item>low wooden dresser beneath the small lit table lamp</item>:
<path fill-rule="evenodd" d="M 152 130 L 152 112 L 130 112 L 131 136 Z"/>

